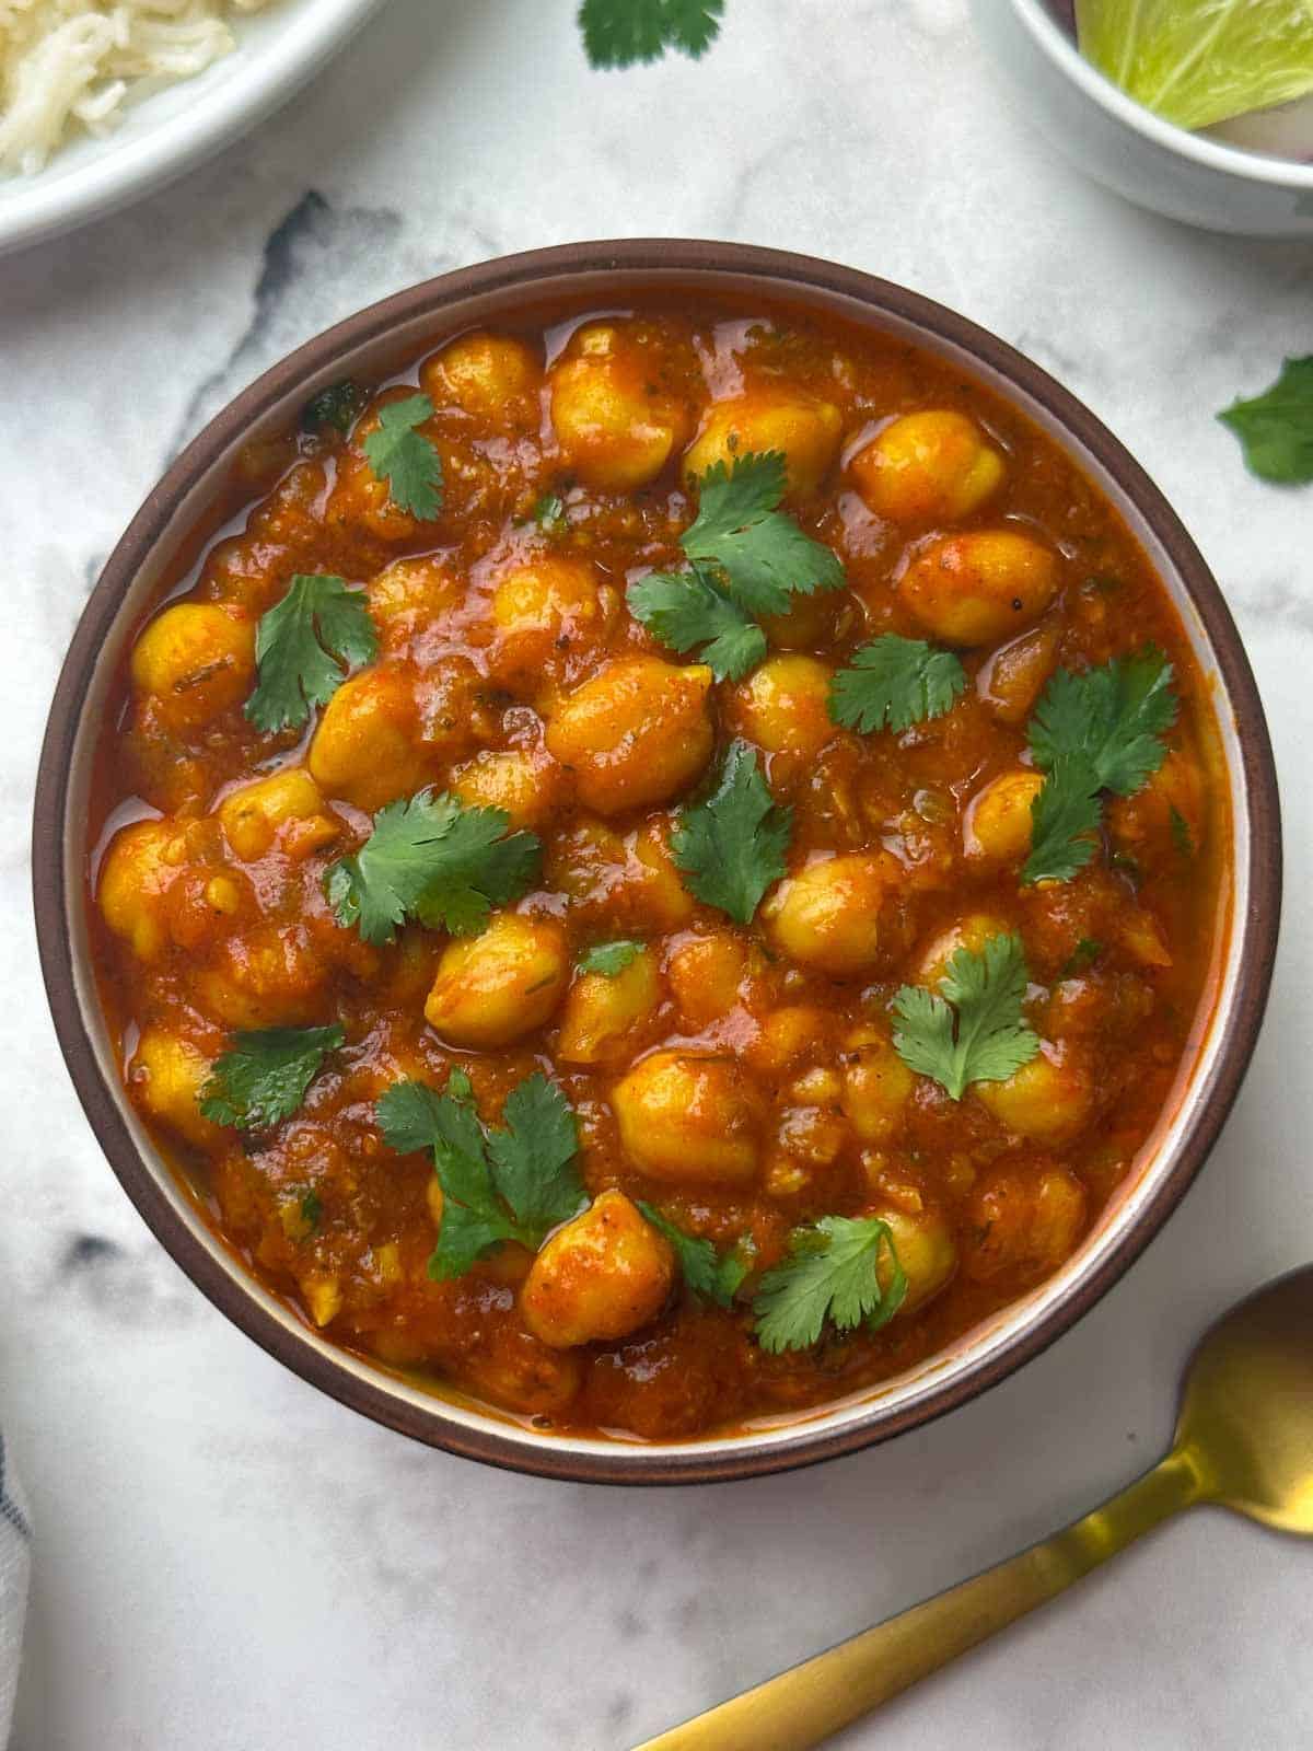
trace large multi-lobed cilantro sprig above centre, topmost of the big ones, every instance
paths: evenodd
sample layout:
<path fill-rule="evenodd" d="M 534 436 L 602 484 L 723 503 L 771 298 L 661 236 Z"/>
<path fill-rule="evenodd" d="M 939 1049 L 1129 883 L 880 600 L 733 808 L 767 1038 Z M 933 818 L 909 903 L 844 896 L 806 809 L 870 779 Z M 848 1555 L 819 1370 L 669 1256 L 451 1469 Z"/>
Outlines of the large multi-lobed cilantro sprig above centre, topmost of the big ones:
<path fill-rule="evenodd" d="M 699 478 L 699 513 L 679 538 L 692 569 L 628 587 L 634 618 L 671 650 L 704 644 L 718 681 L 737 681 L 765 657 L 758 616 L 783 615 L 795 592 L 844 583 L 837 555 L 779 510 L 786 487 L 779 450 L 716 462 Z"/>

